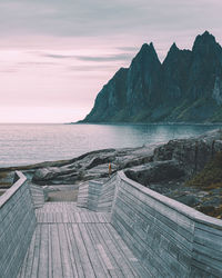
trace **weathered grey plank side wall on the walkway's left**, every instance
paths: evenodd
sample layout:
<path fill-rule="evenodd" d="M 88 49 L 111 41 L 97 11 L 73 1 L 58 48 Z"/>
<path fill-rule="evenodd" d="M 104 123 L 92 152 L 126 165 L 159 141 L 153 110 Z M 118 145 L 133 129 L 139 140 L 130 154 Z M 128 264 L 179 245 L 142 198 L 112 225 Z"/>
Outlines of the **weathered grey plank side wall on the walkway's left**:
<path fill-rule="evenodd" d="M 17 276 L 37 224 L 27 179 L 17 175 L 17 182 L 0 197 L 1 278 Z"/>

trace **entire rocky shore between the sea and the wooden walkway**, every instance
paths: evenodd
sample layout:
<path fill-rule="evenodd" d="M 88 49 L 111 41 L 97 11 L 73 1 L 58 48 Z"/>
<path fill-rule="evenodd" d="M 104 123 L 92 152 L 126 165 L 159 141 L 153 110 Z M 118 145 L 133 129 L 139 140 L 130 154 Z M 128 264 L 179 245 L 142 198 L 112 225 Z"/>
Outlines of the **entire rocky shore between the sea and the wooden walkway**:
<path fill-rule="evenodd" d="M 162 145 L 97 150 L 71 160 L 0 169 L 0 187 L 10 187 L 14 170 L 22 170 L 31 182 L 53 190 L 61 190 L 61 185 L 78 188 L 78 185 L 88 180 L 108 180 L 111 163 L 112 175 L 124 170 L 129 178 L 152 190 L 206 215 L 222 218 L 222 175 L 220 177 L 219 173 L 222 171 L 221 151 L 222 130 L 214 130 Z M 212 163 L 215 159 L 218 162 Z M 218 167 L 216 171 L 212 167 Z M 201 177 L 205 179 L 205 172 L 210 178 L 202 186 Z"/>

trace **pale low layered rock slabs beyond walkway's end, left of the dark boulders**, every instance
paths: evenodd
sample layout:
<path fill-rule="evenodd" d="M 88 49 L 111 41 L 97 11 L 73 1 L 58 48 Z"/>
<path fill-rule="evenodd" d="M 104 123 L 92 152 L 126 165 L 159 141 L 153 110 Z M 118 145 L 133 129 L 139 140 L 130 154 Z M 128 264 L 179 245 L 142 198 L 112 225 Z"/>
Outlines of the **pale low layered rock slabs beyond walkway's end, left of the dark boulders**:
<path fill-rule="evenodd" d="M 61 167 L 37 169 L 31 178 L 38 185 L 73 185 L 85 180 L 105 180 L 112 172 L 152 160 L 155 145 L 139 148 L 104 149 L 84 153 Z"/>

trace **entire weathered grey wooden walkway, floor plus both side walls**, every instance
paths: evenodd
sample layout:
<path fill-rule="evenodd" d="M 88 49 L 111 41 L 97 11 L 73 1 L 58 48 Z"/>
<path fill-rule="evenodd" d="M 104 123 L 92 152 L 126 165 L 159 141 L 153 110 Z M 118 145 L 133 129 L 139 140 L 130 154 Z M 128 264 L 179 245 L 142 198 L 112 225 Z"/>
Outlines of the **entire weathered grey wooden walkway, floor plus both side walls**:
<path fill-rule="evenodd" d="M 21 264 L 18 278 L 222 277 L 222 221 L 123 172 L 82 195 L 99 211 L 48 202 L 34 212 L 24 181 L 0 199 L 2 278 L 17 277 Z"/>

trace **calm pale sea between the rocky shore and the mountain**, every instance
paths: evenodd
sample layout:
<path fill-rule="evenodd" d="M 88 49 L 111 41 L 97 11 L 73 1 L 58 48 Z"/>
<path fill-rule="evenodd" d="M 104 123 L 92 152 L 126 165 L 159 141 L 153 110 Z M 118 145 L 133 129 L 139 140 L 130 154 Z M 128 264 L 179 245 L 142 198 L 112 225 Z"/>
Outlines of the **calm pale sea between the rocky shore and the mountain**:
<path fill-rule="evenodd" d="M 69 159 L 90 150 L 188 138 L 222 126 L 0 125 L 0 167 Z"/>

